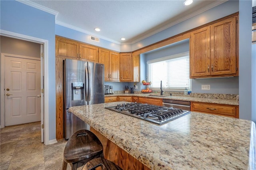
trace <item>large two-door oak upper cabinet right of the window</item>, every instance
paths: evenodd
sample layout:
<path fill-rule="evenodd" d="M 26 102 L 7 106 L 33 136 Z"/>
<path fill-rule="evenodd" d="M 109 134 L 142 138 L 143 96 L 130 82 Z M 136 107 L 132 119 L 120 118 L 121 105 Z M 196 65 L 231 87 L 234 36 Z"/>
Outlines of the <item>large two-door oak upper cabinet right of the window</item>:
<path fill-rule="evenodd" d="M 190 78 L 238 76 L 238 16 L 191 33 Z"/>

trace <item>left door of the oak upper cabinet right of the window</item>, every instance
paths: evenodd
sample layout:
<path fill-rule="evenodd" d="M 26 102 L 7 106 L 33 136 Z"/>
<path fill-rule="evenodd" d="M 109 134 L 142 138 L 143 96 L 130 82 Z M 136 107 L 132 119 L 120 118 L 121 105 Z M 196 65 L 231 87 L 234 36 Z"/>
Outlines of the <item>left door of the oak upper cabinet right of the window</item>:
<path fill-rule="evenodd" d="M 190 78 L 210 75 L 210 27 L 191 33 Z"/>

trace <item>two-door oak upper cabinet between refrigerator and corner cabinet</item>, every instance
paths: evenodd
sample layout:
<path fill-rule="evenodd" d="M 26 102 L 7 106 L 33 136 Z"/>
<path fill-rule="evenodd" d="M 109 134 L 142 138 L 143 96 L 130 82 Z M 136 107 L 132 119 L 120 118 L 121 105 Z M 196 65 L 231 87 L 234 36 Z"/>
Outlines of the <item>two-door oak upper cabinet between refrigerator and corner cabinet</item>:
<path fill-rule="evenodd" d="M 119 53 L 100 48 L 99 63 L 104 64 L 105 81 L 119 81 Z"/>

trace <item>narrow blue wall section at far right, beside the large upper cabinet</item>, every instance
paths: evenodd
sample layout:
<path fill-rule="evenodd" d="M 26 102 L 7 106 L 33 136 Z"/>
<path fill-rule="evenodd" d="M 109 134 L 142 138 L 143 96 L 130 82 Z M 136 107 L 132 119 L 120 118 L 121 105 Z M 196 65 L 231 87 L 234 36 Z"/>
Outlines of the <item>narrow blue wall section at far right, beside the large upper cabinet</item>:
<path fill-rule="evenodd" d="M 239 1 L 239 117 L 252 120 L 255 111 L 255 95 L 252 94 L 252 80 L 255 67 L 254 56 L 252 56 L 252 1 Z M 255 121 L 255 120 L 254 120 Z"/>

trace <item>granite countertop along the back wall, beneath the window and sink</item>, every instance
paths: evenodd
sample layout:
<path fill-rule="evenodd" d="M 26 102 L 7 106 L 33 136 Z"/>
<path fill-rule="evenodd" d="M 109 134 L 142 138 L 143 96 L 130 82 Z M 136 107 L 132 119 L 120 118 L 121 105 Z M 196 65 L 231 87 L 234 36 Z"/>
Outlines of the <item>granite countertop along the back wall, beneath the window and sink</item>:
<path fill-rule="evenodd" d="M 172 99 L 172 100 L 180 100 L 180 101 L 194 101 L 194 102 L 203 102 L 203 103 L 216 103 L 216 104 L 224 104 L 224 105 L 239 105 L 239 102 L 232 99 L 212 99 L 212 98 L 201 98 L 201 97 L 190 97 L 190 95 L 172 95 L 172 96 L 151 96 L 154 93 L 150 94 L 130 94 L 130 93 L 114 93 L 108 96 L 138 96 L 138 97 L 152 97 L 156 99 Z"/>

